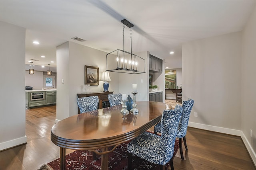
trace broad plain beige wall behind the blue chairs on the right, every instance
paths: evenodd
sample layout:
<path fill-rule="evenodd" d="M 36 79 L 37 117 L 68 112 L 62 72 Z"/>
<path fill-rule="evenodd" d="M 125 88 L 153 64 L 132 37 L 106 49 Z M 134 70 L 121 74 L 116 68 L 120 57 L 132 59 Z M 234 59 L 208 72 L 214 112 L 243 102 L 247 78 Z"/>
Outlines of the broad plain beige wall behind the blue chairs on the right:
<path fill-rule="evenodd" d="M 182 46 L 182 100 L 195 101 L 190 126 L 241 129 L 241 35 L 229 33 Z"/>

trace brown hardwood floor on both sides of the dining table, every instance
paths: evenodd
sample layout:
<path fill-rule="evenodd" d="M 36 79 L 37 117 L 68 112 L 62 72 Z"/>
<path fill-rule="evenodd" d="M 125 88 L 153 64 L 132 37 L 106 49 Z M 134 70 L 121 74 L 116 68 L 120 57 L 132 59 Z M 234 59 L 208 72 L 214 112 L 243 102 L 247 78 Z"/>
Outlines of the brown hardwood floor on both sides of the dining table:
<path fill-rule="evenodd" d="M 0 152 L 0 170 L 37 170 L 59 157 L 59 147 L 50 140 L 56 106 L 26 110 L 28 144 Z M 188 128 L 184 159 L 174 158 L 175 170 L 255 170 L 240 137 Z M 66 154 L 74 150 L 66 150 Z M 168 170 L 170 168 L 168 167 Z"/>

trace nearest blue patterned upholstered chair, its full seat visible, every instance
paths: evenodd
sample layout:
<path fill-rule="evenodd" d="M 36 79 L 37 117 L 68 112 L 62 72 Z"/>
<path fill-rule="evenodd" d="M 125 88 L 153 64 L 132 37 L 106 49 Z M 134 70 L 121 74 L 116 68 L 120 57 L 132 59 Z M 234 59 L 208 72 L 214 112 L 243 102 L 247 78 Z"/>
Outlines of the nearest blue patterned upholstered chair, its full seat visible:
<path fill-rule="evenodd" d="M 166 163 L 169 162 L 171 169 L 174 170 L 172 156 L 181 113 L 182 106 L 177 106 L 173 110 L 164 110 L 161 119 L 163 125 L 161 137 L 144 132 L 128 143 L 129 170 L 132 168 L 132 154 L 153 164 L 161 165 L 163 170 Z"/>

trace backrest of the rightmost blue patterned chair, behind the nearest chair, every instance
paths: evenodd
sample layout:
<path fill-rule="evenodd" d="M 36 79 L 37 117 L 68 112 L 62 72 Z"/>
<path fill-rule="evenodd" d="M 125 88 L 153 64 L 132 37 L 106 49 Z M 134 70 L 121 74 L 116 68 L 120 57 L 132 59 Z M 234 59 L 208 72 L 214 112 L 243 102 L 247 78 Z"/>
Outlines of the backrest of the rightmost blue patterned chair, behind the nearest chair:
<path fill-rule="evenodd" d="M 190 112 L 192 110 L 193 105 L 194 105 L 194 100 L 192 99 L 188 99 L 188 101 L 183 101 L 183 104 L 182 104 L 183 111 L 180 117 L 177 137 L 181 138 L 186 135 L 187 129 L 188 129 L 188 119 L 190 117 Z"/>

